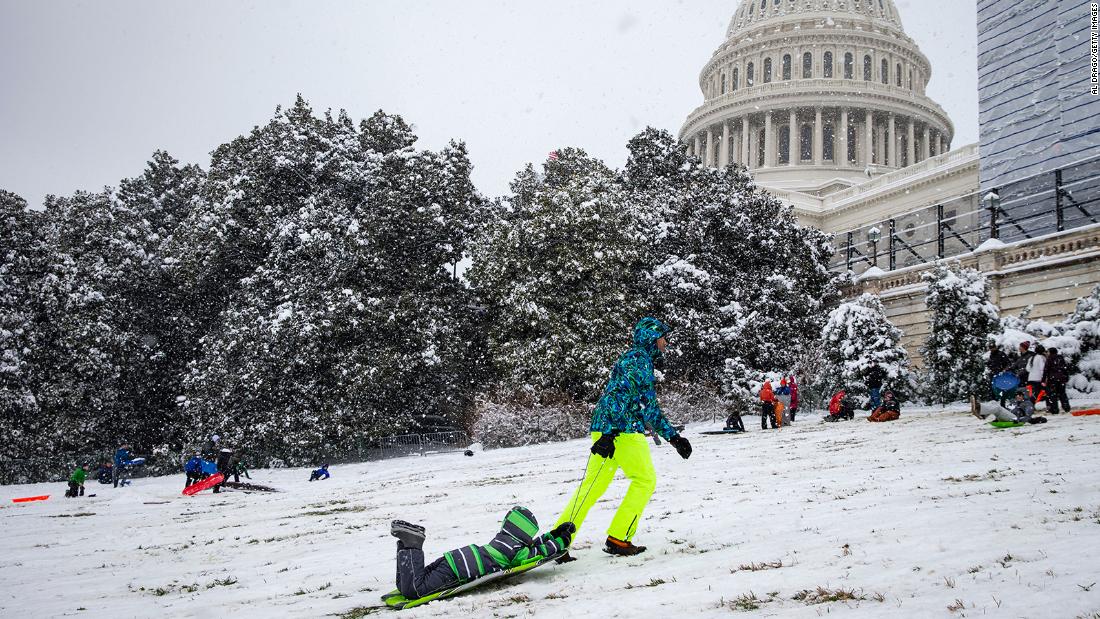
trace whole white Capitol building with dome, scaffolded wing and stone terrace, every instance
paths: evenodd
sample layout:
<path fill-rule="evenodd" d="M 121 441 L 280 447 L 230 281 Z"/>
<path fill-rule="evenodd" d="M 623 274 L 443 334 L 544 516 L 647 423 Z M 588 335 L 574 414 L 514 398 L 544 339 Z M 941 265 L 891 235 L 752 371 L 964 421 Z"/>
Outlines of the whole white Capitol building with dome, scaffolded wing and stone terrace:
<path fill-rule="evenodd" d="M 1087 43 L 1087 4 L 978 9 L 981 143 L 963 146 L 902 18 L 893 0 L 743 0 L 681 142 L 833 233 L 832 267 L 856 276 L 850 295 L 880 295 L 911 353 L 928 331 L 921 274 L 944 259 L 986 272 L 1003 313 L 1060 319 L 1100 283 L 1100 133 L 1066 122 L 1100 126 L 1100 98 L 1035 77 L 1084 64 L 1052 41 Z M 1049 92 L 1068 104 L 1034 104 Z"/>

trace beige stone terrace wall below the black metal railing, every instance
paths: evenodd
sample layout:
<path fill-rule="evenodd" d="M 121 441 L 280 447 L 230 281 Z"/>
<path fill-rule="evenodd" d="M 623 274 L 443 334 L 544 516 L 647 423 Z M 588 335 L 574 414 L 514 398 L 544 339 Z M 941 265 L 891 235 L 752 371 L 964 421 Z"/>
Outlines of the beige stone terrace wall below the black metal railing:
<path fill-rule="evenodd" d="M 1100 285 L 1100 225 L 1011 245 L 987 244 L 985 251 L 948 261 L 986 273 L 1002 314 L 1019 314 L 1034 306 L 1032 318 L 1057 322 L 1074 311 L 1077 299 Z M 846 290 L 848 298 L 862 292 L 881 297 L 887 316 L 904 332 L 902 343 L 916 366 L 923 365 L 921 345 L 930 328 L 921 276 L 931 268 L 922 265 L 867 277 Z"/>

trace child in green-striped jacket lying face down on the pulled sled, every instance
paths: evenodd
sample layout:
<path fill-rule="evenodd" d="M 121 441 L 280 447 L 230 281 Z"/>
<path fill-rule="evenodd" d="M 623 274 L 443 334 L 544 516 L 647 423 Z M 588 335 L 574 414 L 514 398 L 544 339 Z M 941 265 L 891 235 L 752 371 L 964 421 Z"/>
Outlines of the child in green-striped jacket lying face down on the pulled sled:
<path fill-rule="evenodd" d="M 389 532 L 397 538 L 397 590 L 408 599 L 419 599 L 494 572 L 553 556 L 569 548 L 574 531 L 572 522 L 564 522 L 536 538 L 539 523 L 535 515 L 527 508 L 514 507 L 490 543 L 446 552 L 425 566 L 424 527 L 394 520 Z"/>

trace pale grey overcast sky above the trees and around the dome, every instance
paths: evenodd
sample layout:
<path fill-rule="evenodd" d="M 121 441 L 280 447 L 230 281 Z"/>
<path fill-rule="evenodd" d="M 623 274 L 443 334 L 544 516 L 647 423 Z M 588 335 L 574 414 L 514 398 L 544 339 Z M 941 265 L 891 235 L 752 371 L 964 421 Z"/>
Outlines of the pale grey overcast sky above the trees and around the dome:
<path fill-rule="evenodd" d="M 647 124 L 679 130 L 738 0 L 0 0 L 0 188 L 117 186 L 156 148 L 209 164 L 301 92 L 384 109 L 419 146 L 464 140 L 474 181 L 580 146 L 620 166 Z M 928 95 L 978 139 L 975 0 L 897 0 Z"/>

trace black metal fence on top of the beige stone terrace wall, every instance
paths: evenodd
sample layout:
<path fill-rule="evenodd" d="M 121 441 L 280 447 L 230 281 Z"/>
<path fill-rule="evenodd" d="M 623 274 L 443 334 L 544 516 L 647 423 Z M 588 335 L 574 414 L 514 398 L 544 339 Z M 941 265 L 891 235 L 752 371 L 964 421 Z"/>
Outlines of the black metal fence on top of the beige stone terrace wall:
<path fill-rule="evenodd" d="M 857 275 L 1100 223 L 1100 157 L 977 191 L 837 235 L 831 268 Z"/>

